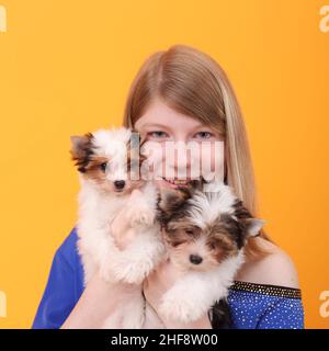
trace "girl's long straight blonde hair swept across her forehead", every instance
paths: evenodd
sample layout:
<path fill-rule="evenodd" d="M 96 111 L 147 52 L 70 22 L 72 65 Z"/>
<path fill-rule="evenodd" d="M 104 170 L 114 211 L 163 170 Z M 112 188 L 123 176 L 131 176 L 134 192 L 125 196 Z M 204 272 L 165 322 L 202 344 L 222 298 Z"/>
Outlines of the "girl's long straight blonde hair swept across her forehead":
<path fill-rule="evenodd" d="M 133 128 L 155 98 L 179 113 L 202 121 L 224 137 L 225 182 L 257 217 L 254 174 L 246 127 L 236 94 L 222 67 L 208 55 L 185 45 L 155 53 L 143 64 L 131 86 L 123 125 Z M 270 240 L 263 229 L 260 236 Z M 268 252 L 257 240 L 250 239 L 246 253 L 259 257 Z"/>

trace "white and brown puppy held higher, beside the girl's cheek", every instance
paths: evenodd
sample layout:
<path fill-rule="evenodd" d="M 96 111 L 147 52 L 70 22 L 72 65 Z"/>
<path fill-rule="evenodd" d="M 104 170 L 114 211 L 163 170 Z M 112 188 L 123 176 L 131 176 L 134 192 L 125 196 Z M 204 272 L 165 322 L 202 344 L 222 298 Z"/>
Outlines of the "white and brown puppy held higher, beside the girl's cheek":
<path fill-rule="evenodd" d="M 141 285 L 163 256 L 160 227 L 155 220 L 158 192 L 151 182 L 137 174 L 139 138 L 136 144 L 135 133 L 134 136 L 135 141 L 132 131 L 121 127 L 71 137 L 70 151 L 81 184 L 77 230 L 84 284 L 100 272 L 107 281 Z M 137 189 L 138 195 L 128 202 Z M 111 224 L 124 207 L 135 237 L 124 250 L 120 250 Z M 122 318 L 123 328 L 141 328 L 144 308 L 140 288 L 124 310 L 106 320 L 104 328 L 116 326 Z"/>

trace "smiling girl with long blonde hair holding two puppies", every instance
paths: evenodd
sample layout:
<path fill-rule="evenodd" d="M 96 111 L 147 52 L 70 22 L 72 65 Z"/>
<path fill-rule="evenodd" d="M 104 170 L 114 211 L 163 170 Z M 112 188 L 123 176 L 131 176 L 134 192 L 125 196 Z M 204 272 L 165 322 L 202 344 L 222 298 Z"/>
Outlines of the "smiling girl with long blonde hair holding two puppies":
<path fill-rule="evenodd" d="M 150 56 L 133 81 L 123 124 L 156 143 L 223 140 L 224 181 L 257 217 L 253 170 L 240 107 L 225 72 L 209 56 L 183 45 Z M 166 179 L 157 185 L 169 186 Z M 113 223 L 122 247 L 131 239 L 125 237 L 124 223 L 123 212 Z M 134 284 L 110 284 L 98 276 L 83 288 L 76 241 L 73 228 L 55 254 L 34 328 L 98 328 L 136 288 L 140 290 Z M 148 328 L 160 324 L 167 328 L 212 328 L 208 314 L 182 325 L 166 320 L 159 313 L 161 296 L 180 274 L 167 261 L 145 280 L 144 294 L 156 316 L 146 320 Z M 230 288 L 228 303 L 231 328 L 304 328 L 294 264 L 263 229 L 249 240 L 247 260 Z"/>

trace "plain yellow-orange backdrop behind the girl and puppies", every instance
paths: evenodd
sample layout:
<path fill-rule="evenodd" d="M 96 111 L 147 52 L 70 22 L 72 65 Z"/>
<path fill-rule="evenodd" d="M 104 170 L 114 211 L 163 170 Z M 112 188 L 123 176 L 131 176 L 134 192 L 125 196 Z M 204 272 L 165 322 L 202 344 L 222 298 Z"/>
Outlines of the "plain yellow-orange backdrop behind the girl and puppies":
<path fill-rule="evenodd" d="M 266 230 L 298 269 L 306 327 L 328 328 L 326 2 L 0 0 L 0 327 L 31 327 L 75 225 L 69 136 L 120 125 L 144 59 L 188 44 L 218 60 L 236 89 Z"/>

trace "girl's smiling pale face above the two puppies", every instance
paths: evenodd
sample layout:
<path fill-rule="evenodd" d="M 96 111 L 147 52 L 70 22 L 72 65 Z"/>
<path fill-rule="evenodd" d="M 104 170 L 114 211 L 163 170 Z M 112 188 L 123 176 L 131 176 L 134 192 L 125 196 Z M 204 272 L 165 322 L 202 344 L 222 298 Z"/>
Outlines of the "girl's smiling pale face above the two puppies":
<path fill-rule="evenodd" d="M 146 137 L 151 151 L 162 150 L 155 152 L 157 156 L 152 155 L 162 172 L 155 180 L 159 189 L 186 186 L 193 179 L 206 178 L 209 168 L 215 170 L 216 180 L 224 180 L 224 139 L 201 121 L 181 114 L 156 99 L 135 123 L 135 129 Z M 173 144 L 177 150 L 174 154 L 168 152 L 168 147 Z M 193 152 L 191 149 L 186 151 L 184 147 L 188 145 L 193 145 Z M 196 149 L 198 151 L 195 152 Z"/>

